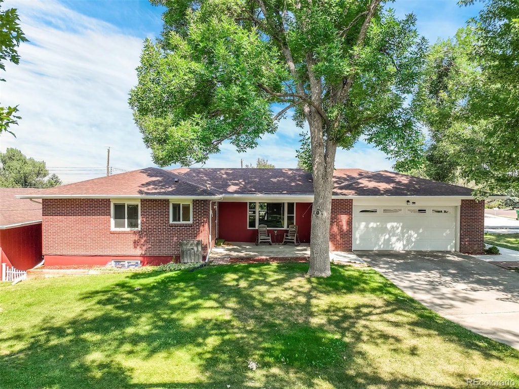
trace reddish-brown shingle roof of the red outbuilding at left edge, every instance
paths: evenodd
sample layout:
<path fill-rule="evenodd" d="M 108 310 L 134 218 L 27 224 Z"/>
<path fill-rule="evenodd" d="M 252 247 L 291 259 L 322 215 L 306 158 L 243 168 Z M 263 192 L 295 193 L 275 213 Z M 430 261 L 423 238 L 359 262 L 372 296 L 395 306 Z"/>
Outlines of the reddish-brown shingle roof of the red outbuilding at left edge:
<path fill-rule="evenodd" d="M 34 191 L 34 188 L 0 188 L 0 229 L 42 222 L 41 204 L 15 197 Z"/>

